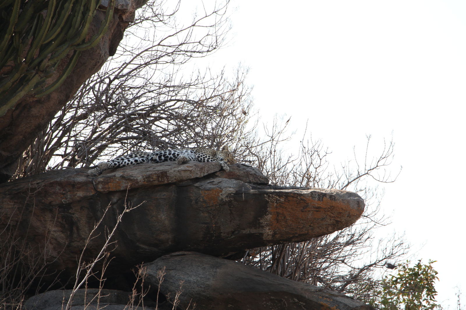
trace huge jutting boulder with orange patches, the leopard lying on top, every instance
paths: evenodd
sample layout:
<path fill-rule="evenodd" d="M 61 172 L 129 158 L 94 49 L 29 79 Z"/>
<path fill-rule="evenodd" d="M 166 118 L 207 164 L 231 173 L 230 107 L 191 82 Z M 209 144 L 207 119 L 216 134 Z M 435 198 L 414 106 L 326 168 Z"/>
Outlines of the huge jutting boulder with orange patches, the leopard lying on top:
<path fill-rule="evenodd" d="M 217 162 L 144 164 L 91 178 L 57 170 L 0 185 L 0 231 L 16 231 L 50 268 L 72 274 L 94 259 L 125 206 L 109 270 L 122 271 L 176 251 L 234 257 L 246 249 L 309 240 L 353 224 L 363 199 L 349 191 L 264 185 L 260 171 Z M 237 178 L 237 179 L 233 179 Z M 248 183 L 248 182 L 257 182 Z M 7 230 L 4 230 L 7 228 Z"/>

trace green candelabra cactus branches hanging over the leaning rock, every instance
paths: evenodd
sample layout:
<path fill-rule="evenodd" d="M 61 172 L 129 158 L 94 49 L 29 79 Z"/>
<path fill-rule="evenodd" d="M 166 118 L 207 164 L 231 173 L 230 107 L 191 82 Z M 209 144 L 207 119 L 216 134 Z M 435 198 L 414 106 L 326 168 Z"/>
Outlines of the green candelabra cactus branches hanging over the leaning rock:
<path fill-rule="evenodd" d="M 0 4 L 0 116 L 25 95 L 40 98 L 69 76 L 82 51 L 109 28 L 110 0 L 99 31 L 86 40 L 100 0 L 6 0 Z M 72 53 L 72 54 L 71 54 Z M 70 55 L 71 54 L 71 55 Z M 60 76 L 54 76 L 67 55 Z"/>

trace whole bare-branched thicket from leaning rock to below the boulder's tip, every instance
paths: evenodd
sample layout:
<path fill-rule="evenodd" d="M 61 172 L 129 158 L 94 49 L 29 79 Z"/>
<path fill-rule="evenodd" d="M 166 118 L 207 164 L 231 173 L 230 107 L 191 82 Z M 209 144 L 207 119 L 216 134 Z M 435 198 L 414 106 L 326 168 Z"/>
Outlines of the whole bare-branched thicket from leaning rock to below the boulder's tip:
<path fill-rule="evenodd" d="M 393 182 L 393 143 L 378 156 L 362 157 L 336 168 L 328 149 L 303 134 L 295 155 L 283 151 L 290 140 L 289 119 L 259 128 L 247 69 L 235 74 L 209 70 L 185 75 L 190 59 L 222 46 L 228 31 L 228 2 L 182 25 L 174 7 L 154 0 L 138 11 L 116 56 L 89 79 L 29 147 L 16 177 L 47 169 L 89 167 L 96 161 L 140 150 L 228 144 L 242 163 L 258 167 L 281 186 L 336 188 L 358 192 L 366 211 L 356 224 L 307 242 L 252 249 L 243 259 L 296 281 L 358 297 L 361 278 L 371 279 L 387 260 L 404 256 L 408 246 L 393 236 L 373 246 L 373 232 L 387 224 L 380 214 L 383 190 Z M 260 132 L 260 134 L 258 133 Z M 368 146 L 370 137 L 368 137 Z"/>

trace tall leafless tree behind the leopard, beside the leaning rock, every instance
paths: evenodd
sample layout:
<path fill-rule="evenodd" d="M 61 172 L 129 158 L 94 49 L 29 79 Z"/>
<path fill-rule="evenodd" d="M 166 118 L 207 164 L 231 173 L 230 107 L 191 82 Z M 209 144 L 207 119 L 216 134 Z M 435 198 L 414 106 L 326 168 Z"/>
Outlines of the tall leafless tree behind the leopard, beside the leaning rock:
<path fill-rule="evenodd" d="M 180 68 L 222 46 L 227 7 L 228 1 L 195 15 L 188 25 L 175 18 L 179 2 L 153 0 L 138 11 L 121 50 L 41 132 L 16 177 L 87 167 L 121 152 L 225 143 L 249 113 L 246 72 L 227 79 L 208 70 L 184 76 Z"/>

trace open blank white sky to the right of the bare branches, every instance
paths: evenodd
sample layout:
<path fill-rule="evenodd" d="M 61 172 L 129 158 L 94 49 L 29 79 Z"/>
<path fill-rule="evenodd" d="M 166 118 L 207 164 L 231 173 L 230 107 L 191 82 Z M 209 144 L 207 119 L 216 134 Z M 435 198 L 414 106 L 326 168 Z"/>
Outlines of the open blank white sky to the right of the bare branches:
<path fill-rule="evenodd" d="M 209 1 L 205 1 L 209 2 Z M 395 141 L 398 180 L 385 186 L 390 230 L 417 258 L 438 260 L 437 300 L 466 290 L 466 1 L 232 0 L 235 36 L 206 60 L 250 67 L 262 120 L 309 119 L 336 165 L 363 152 L 365 135 Z M 463 296 L 463 303 L 465 302 Z"/>

